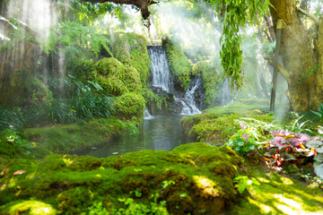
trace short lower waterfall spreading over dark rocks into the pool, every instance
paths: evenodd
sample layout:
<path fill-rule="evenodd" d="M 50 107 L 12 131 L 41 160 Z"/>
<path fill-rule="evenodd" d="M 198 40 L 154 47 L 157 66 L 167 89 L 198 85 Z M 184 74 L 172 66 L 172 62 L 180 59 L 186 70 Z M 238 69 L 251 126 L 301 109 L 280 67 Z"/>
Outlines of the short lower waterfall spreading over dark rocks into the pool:
<path fill-rule="evenodd" d="M 189 83 L 188 90 L 185 92 L 183 98 L 175 99 L 175 101 L 179 101 L 183 106 L 180 115 L 196 115 L 201 113 L 201 111 L 196 107 L 195 102 L 195 92 L 201 83 L 200 79 L 193 79 Z"/>

